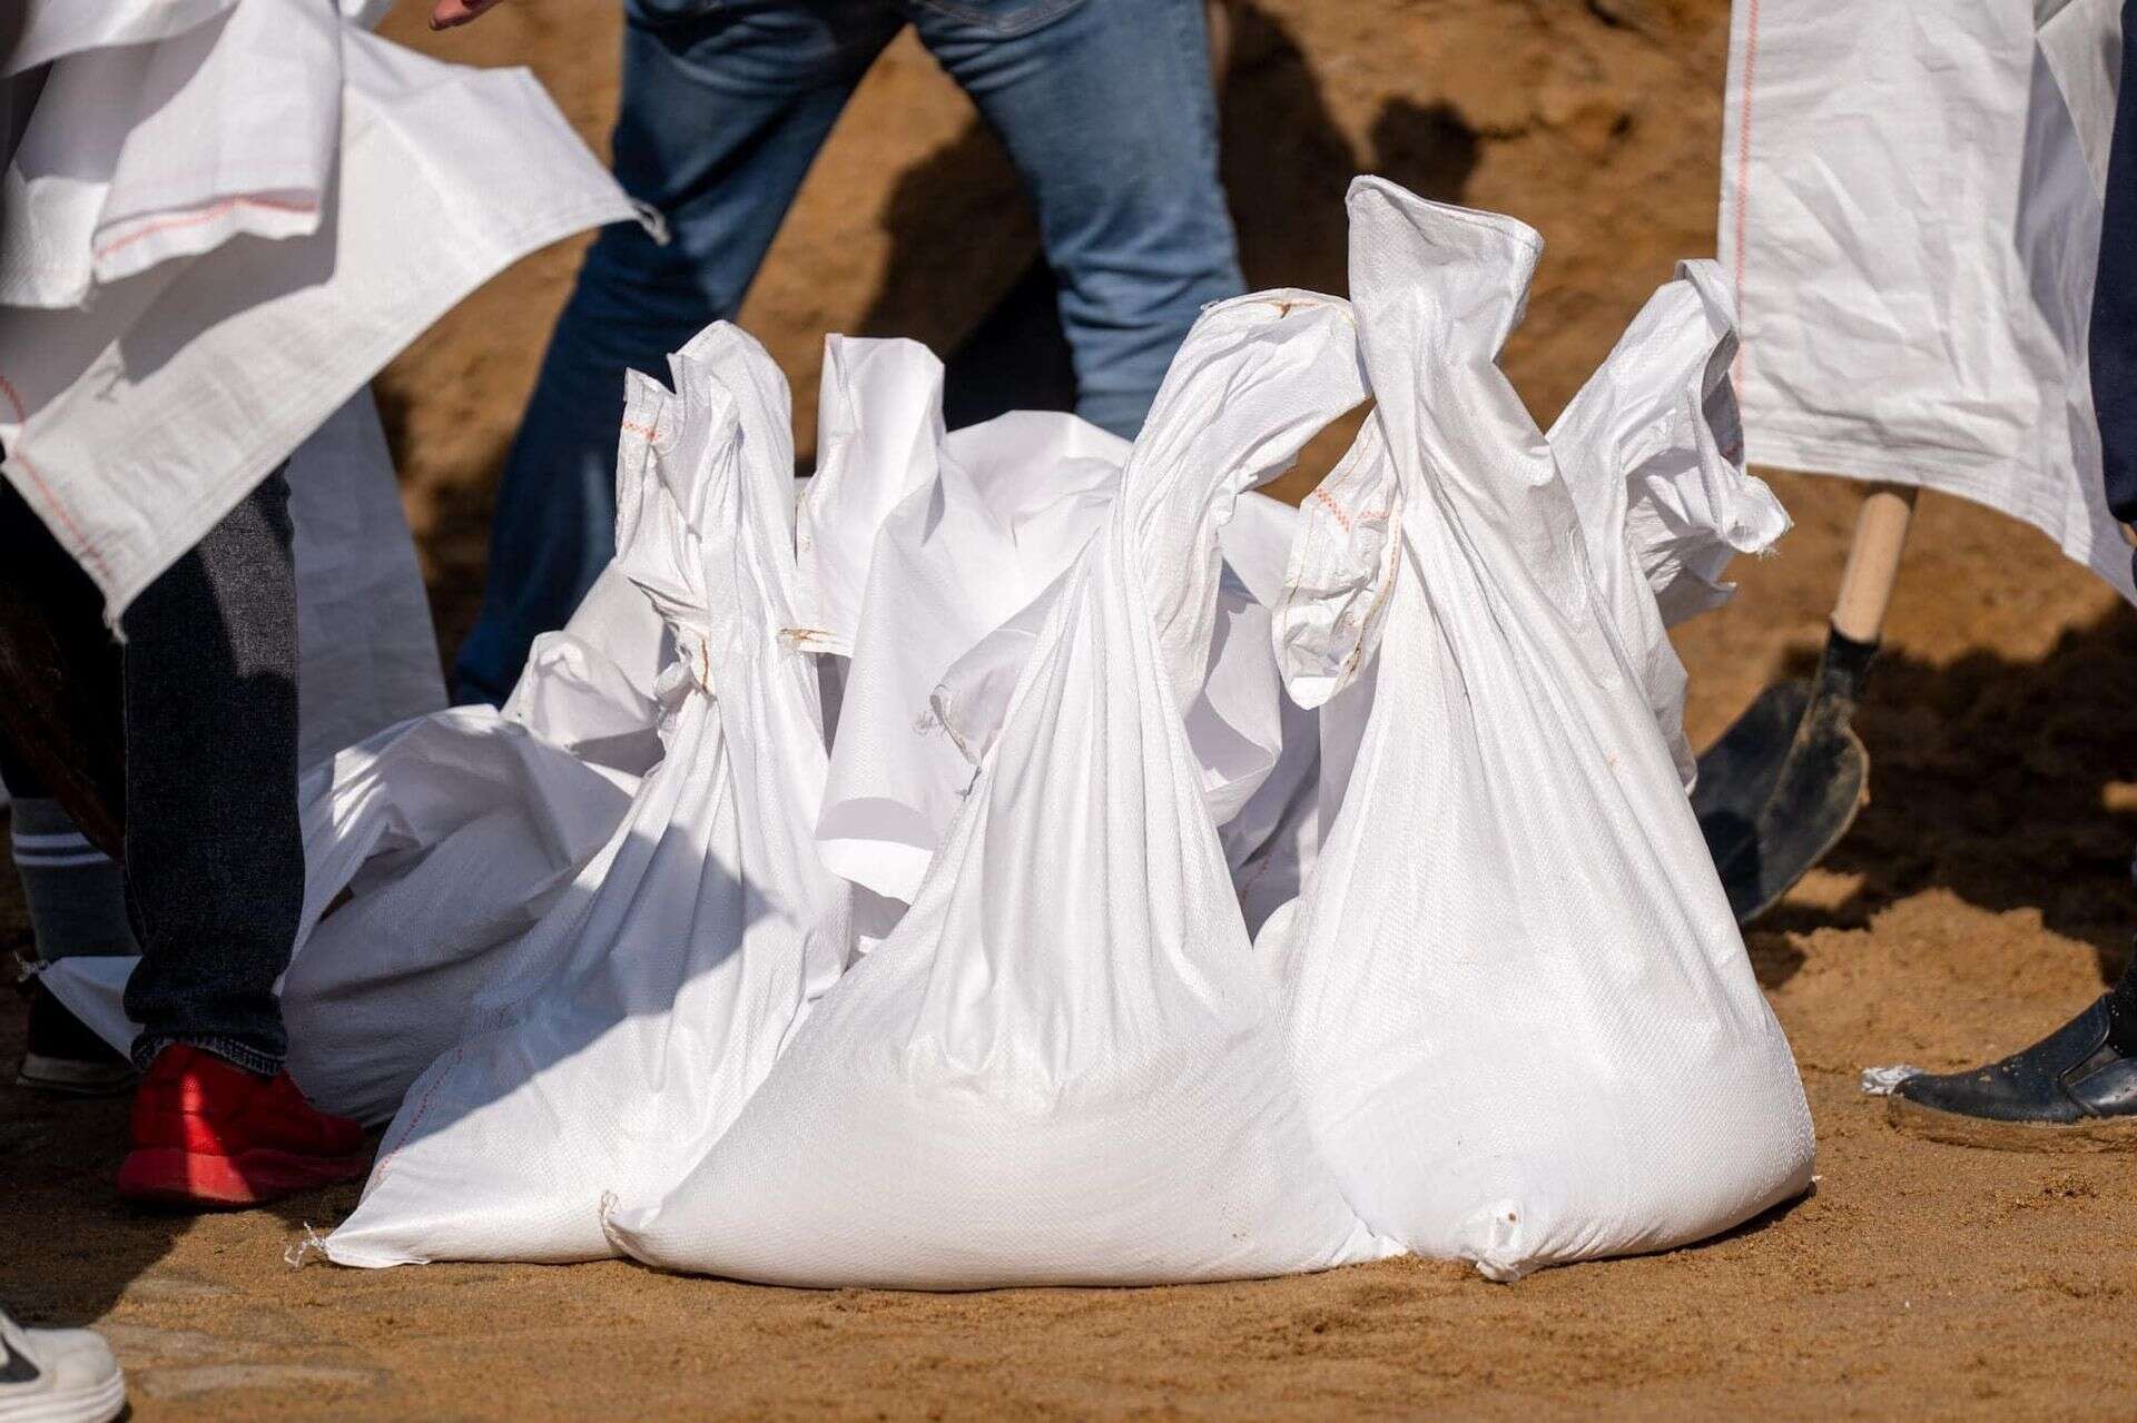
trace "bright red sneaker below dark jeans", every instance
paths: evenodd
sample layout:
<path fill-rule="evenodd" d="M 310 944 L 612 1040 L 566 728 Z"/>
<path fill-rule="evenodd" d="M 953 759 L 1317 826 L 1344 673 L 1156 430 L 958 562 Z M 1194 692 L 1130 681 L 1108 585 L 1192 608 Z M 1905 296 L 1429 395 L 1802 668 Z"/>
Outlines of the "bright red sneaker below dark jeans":
<path fill-rule="evenodd" d="M 165 1205 L 259 1205 L 350 1182 L 368 1167 L 363 1128 L 312 1107 L 288 1073 L 256 1077 L 180 1043 L 156 1053 L 135 1092 L 120 1194 Z"/>

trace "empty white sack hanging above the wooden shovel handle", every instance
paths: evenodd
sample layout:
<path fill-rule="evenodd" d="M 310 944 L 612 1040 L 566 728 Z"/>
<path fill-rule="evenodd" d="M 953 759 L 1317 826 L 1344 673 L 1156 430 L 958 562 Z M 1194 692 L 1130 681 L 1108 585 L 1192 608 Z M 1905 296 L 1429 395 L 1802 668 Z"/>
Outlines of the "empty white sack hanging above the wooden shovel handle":
<path fill-rule="evenodd" d="M 1735 6 L 1752 464 L 1977 500 L 2137 598 L 2086 357 L 2120 56 L 2116 0 Z"/>

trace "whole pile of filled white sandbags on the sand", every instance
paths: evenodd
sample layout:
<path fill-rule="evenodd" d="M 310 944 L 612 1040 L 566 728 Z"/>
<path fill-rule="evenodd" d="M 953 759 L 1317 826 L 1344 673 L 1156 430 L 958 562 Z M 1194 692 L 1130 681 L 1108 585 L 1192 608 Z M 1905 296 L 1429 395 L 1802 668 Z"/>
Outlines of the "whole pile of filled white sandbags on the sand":
<path fill-rule="evenodd" d="M 312 786 L 293 1068 L 397 1103 L 331 1258 L 1507 1280 L 1808 1186 L 1663 632 L 1787 528 L 1727 288 L 1545 436 L 1494 363 L 1534 233 L 1351 222 L 1351 301 L 1214 306 L 1133 447 L 945 432 L 934 357 L 833 338 L 797 500 L 754 342 L 635 380 L 615 566 L 506 714 Z"/>

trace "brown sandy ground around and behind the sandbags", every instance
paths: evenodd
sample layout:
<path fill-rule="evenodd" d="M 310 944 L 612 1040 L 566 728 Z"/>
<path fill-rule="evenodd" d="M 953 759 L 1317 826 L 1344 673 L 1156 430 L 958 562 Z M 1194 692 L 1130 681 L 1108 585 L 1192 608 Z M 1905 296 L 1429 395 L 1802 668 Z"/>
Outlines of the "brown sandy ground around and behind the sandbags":
<path fill-rule="evenodd" d="M 1338 199 L 1359 169 L 1519 214 L 1551 248 L 1507 365 L 1549 417 L 1669 263 L 1712 250 L 1725 19 L 1722 0 L 1254 0 L 1227 100 L 1248 278 L 1340 291 Z M 410 15 L 393 32 L 532 62 L 598 141 L 613 24 L 607 4 L 521 0 L 462 36 Z M 795 378 L 804 453 L 823 331 L 947 346 L 1028 259 L 998 150 L 898 45 L 744 312 Z M 521 265 L 383 380 L 447 643 L 472 615 L 487 489 L 573 263 Z M 1857 494 L 1776 487 L 1797 521 L 1780 556 L 1684 628 L 1697 739 L 1821 637 Z M 1874 801 L 1748 936 L 1810 1088 L 1821 1182 L 1725 1239 L 1515 1286 L 1432 1263 L 951 1297 L 628 1265 L 291 1269 L 303 1222 L 336 1222 L 355 1188 L 130 1214 L 109 1190 L 122 1105 L 0 1088 L 0 1297 L 107 1329 L 139 1419 L 2137 1417 L 2128 1158 L 1923 1145 L 1855 1090 L 1866 1064 L 2030 1041 L 2099 994 L 2137 921 L 2137 617 L 1994 515 L 1930 498 L 1917 528 L 1861 716 Z M 24 942 L 11 878 L 0 895 L 0 936 Z M 0 1058 L 15 1034 L 0 1026 Z"/>

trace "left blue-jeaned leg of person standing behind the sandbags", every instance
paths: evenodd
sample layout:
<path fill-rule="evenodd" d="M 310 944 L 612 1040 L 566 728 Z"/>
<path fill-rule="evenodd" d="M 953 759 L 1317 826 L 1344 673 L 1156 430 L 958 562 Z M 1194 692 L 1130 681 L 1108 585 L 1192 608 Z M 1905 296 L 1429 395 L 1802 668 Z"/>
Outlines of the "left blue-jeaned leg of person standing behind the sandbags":
<path fill-rule="evenodd" d="M 872 0 L 624 13 L 615 177 L 669 244 L 609 226 L 579 269 L 498 485 L 459 701 L 502 701 L 534 637 L 564 626 L 607 566 L 624 372 L 665 374 L 671 350 L 735 316 L 853 85 L 902 26 Z"/>

